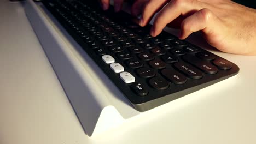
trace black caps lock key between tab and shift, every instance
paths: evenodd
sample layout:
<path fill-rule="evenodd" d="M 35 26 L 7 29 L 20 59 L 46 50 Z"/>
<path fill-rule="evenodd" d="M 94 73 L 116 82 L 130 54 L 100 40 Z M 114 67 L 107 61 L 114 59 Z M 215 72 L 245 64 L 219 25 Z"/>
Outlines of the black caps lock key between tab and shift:
<path fill-rule="evenodd" d="M 203 77 L 203 73 L 200 70 L 187 63 L 178 62 L 174 64 L 174 67 L 192 79 L 201 79 Z"/>

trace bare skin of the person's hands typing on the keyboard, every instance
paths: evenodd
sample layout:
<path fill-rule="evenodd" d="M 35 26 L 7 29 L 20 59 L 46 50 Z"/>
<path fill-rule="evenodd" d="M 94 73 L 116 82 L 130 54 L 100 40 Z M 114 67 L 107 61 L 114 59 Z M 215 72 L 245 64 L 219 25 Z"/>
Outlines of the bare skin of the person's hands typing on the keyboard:
<path fill-rule="evenodd" d="M 104 10 L 109 0 L 101 0 Z M 123 0 L 114 0 L 115 11 Z M 179 39 L 201 31 L 207 42 L 220 51 L 256 55 L 256 10 L 229 0 L 135 0 L 131 12 L 141 15 L 146 26 L 155 13 L 150 34 L 155 37 L 167 25 L 179 28 Z"/>

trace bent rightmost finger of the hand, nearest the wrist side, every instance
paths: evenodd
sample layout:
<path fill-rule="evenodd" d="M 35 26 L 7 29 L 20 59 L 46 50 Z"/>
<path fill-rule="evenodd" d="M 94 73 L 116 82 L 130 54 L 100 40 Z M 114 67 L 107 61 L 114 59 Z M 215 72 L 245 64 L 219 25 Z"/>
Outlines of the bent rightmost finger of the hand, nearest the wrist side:
<path fill-rule="evenodd" d="M 214 23 L 214 24 L 213 24 Z M 202 30 L 209 33 L 213 25 L 218 23 L 218 17 L 209 9 L 201 9 L 183 20 L 179 39 L 187 38 L 191 33 Z"/>

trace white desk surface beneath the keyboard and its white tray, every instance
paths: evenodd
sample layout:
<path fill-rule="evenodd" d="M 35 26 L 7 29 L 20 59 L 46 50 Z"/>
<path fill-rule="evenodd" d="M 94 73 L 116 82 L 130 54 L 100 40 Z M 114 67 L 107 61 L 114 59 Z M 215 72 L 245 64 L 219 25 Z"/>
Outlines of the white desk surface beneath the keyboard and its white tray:
<path fill-rule="evenodd" d="M 22 4 L 0 1 L 0 17 L 1 144 L 256 143 L 256 56 L 214 52 L 236 63 L 240 73 L 165 105 L 166 111 L 88 137 Z"/>

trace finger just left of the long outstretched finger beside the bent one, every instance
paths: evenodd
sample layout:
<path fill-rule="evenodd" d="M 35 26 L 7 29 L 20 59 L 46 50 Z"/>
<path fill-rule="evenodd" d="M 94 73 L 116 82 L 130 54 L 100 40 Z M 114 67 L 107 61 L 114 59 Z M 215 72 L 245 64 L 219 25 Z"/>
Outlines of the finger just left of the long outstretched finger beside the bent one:
<path fill-rule="evenodd" d="M 168 0 L 149 0 L 143 8 L 143 13 L 139 25 L 146 26 L 153 15 L 168 2 Z"/>

